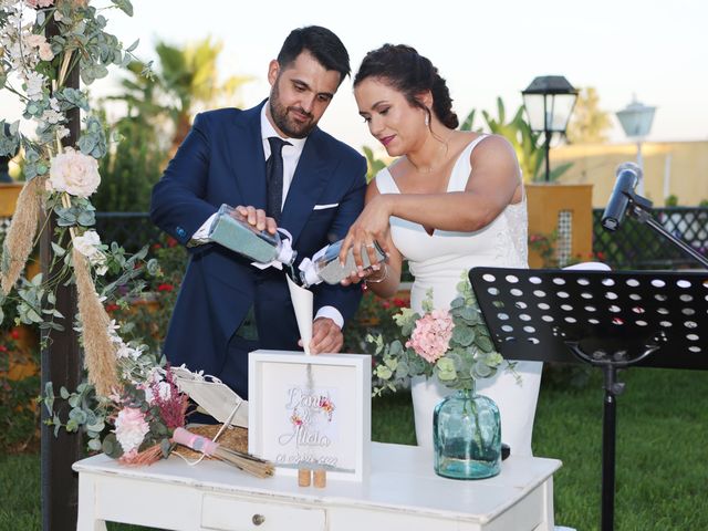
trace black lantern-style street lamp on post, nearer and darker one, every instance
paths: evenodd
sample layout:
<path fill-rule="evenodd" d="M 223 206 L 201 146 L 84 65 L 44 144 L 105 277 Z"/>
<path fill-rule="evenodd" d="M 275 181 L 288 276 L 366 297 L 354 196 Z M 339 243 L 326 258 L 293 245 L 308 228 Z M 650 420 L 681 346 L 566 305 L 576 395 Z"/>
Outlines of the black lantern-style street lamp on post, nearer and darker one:
<path fill-rule="evenodd" d="M 545 181 L 551 180 L 551 137 L 564 134 L 577 100 L 577 91 L 562 75 L 535 77 L 523 91 L 523 106 L 529 125 L 534 132 L 543 132 L 545 143 Z"/>

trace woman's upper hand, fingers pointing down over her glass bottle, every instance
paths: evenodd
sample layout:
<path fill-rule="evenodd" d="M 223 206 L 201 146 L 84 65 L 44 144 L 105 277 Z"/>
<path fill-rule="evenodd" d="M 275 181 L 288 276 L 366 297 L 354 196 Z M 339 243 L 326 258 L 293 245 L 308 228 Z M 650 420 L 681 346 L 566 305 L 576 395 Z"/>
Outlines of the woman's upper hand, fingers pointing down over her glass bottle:
<path fill-rule="evenodd" d="M 354 221 L 354 225 L 352 225 L 344 238 L 342 249 L 340 250 L 340 262 L 346 262 L 346 254 L 348 250 L 352 249 L 356 264 L 355 272 L 364 273 L 362 249 L 366 249 L 369 263 L 376 263 L 378 261 L 374 241 L 379 244 L 385 254 L 388 254 L 388 249 L 385 244 L 386 241 L 388 241 L 388 230 L 391 230 L 389 217 L 391 211 L 386 196 L 375 196 L 364 207 L 364 210 L 362 210 L 362 214 L 356 218 L 356 221 Z M 350 278 L 353 280 L 353 277 Z"/>

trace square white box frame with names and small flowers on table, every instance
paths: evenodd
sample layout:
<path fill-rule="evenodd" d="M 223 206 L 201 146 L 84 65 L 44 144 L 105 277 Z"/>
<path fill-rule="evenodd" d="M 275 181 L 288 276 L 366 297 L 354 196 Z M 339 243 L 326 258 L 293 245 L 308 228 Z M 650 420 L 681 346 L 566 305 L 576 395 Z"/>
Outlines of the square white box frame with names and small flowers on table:
<path fill-rule="evenodd" d="M 325 468 L 362 481 L 369 471 L 372 358 L 367 354 L 254 351 L 249 355 L 249 452 L 275 473 Z"/>

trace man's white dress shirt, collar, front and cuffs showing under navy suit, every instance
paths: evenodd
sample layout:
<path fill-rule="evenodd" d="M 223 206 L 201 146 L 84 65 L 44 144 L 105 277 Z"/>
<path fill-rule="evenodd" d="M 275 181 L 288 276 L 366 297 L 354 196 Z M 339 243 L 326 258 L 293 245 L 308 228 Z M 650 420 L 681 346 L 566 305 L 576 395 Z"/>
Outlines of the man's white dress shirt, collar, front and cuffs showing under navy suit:
<path fill-rule="evenodd" d="M 266 115 L 266 105 L 261 108 L 261 137 L 263 143 L 263 154 L 266 155 L 264 160 L 268 160 L 270 157 L 270 143 L 268 138 L 271 136 L 280 136 L 273 125 L 268 119 Z M 281 136 L 282 138 L 282 136 Z M 302 155 L 302 149 L 305 147 L 305 142 L 308 138 L 282 138 L 287 140 L 290 145 L 285 144 L 283 146 L 283 198 L 281 202 L 281 208 L 285 205 L 285 199 L 288 198 L 288 191 L 290 190 L 290 185 L 292 184 L 292 178 L 295 175 L 295 168 L 298 167 L 298 162 L 300 162 L 300 155 Z M 248 206 L 248 205 L 247 205 Z M 209 233 L 209 227 L 211 227 L 211 222 L 216 214 L 209 216 L 209 218 L 197 229 L 197 231 L 192 235 L 191 239 L 195 242 L 205 242 L 207 241 L 207 236 Z M 327 317 L 334 321 L 334 323 L 342 329 L 344 326 L 344 317 L 342 316 L 342 312 L 340 312 L 334 306 L 322 306 L 317 310 L 317 314 L 315 319 L 319 317 Z"/>

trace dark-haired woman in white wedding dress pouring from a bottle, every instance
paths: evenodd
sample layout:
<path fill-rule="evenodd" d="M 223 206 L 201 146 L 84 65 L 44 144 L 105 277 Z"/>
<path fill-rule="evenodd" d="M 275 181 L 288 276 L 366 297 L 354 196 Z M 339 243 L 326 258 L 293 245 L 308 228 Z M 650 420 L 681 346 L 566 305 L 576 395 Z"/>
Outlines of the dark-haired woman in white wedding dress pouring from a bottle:
<path fill-rule="evenodd" d="M 406 45 L 371 51 L 354 77 L 358 111 L 388 155 L 398 157 L 368 186 L 366 207 L 350 229 L 341 258 L 373 242 L 388 252 L 375 270 L 353 271 L 379 296 L 400 283 L 404 259 L 415 277 L 413 310 L 433 289 L 435 308 L 448 309 L 464 271 L 479 266 L 527 268 L 527 200 L 511 145 L 497 135 L 456 131 L 446 82 L 430 61 Z M 518 362 L 477 382 L 501 415 L 502 440 L 513 455 L 531 455 L 531 433 L 542 364 Z M 412 382 L 418 445 L 433 446 L 433 409 L 451 391 L 436 379 Z"/>

